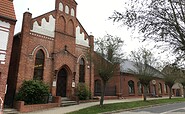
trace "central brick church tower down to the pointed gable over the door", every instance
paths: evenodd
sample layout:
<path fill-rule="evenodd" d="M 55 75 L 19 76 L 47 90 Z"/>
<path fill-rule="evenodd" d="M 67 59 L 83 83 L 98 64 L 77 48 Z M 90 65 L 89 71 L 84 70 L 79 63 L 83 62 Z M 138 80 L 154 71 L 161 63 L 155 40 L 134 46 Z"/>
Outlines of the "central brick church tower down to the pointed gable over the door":
<path fill-rule="evenodd" d="M 54 52 L 58 52 L 66 46 L 70 53 L 75 53 L 76 7 L 75 0 L 56 0 Z"/>

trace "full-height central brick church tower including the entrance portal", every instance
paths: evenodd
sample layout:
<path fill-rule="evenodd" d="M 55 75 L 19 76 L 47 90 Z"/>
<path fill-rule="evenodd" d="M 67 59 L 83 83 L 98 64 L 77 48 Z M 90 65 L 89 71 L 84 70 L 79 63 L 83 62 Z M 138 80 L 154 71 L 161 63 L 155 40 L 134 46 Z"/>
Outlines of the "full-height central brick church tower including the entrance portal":
<path fill-rule="evenodd" d="M 53 47 L 53 71 L 56 72 L 53 83 L 56 86 L 53 87 L 53 91 L 56 90 L 56 95 L 59 96 L 72 96 L 72 93 L 66 92 L 71 90 L 71 83 L 73 74 L 76 72 L 76 27 L 78 24 L 76 18 L 77 3 L 75 0 L 56 0 L 55 2 L 55 36 Z M 59 63 L 60 61 L 60 63 Z M 69 70 L 70 69 L 70 70 Z M 62 95 L 60 95 L 60 75 L 62 72 L 66 72 L 65 79 L 67 84 L 64 87 Z M 55 84 L 54 84 L 55 85 Z M 65 90 L 66 89 L 66 90 Z M 55 92 L 54 92 L 55 93 Z M 55 94 L 54 94 L 55 95 Z"/>

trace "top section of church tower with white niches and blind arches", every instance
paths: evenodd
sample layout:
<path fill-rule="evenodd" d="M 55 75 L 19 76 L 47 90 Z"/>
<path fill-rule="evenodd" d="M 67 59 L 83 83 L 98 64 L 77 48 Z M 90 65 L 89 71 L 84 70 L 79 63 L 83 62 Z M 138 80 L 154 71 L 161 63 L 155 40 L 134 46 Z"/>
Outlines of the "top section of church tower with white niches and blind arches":
<path fill-rule="evenodd" d="M 75 0 L 56 0 L 55 9 L 57 11 L 56 31 L 75 35 L 76 26 L 76 7 Z"/>

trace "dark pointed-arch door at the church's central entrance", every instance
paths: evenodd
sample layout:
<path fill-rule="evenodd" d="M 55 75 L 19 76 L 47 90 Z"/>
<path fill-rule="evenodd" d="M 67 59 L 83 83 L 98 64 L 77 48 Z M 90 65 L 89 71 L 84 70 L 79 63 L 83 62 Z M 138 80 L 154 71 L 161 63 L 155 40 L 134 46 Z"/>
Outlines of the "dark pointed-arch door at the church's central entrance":
<path fill-rule="evenodd" d="M 56 95 L 61 97 L 66 97 L 66 89 L 67 89 L 67 71 L 65 68 L 62 68 L 58 72 L 57 76 L 57 90 Z"/>

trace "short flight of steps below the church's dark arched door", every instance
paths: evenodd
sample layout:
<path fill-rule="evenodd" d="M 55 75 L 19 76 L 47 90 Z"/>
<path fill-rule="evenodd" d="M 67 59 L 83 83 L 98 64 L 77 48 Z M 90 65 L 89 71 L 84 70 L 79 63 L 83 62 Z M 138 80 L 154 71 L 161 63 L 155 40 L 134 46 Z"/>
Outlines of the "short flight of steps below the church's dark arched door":
<path fill-rule="evenodd" d="M 62 102 L 61 102 L 61 107 L 66 107 L 66 106 L 72 106 L 72 105 L 77 105 L 78 103 L 76 101 L 72 101 L 68 99 L 67 97 L 62 97 Z"/>

